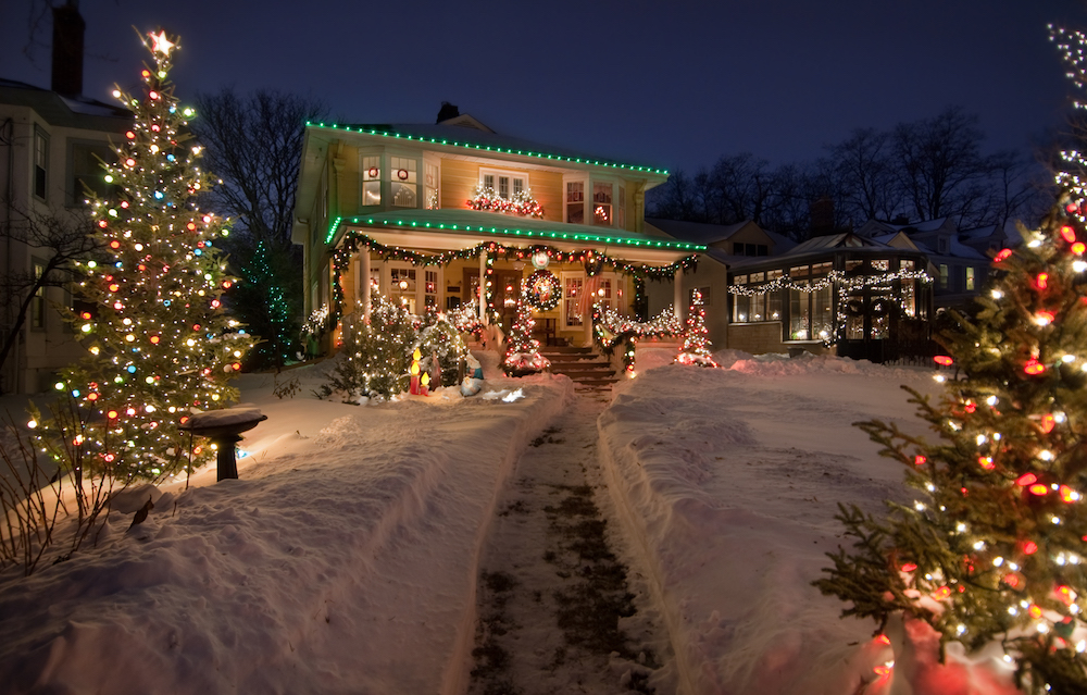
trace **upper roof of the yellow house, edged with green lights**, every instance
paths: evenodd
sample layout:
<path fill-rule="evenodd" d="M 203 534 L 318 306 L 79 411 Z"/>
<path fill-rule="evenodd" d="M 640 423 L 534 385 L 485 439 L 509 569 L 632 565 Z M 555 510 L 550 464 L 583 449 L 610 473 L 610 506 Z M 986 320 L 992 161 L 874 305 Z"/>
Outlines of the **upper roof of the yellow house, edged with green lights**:
<path fill-rule="evenodd" d="M 378 124 L 326 124 L 307 122 L 311 128 L 325 128 L 330 131 L 345 131 L 348 133 L 361 133 L 363 135 L 377 135 L 382 137 L 398 138 L 404 140 L 416 140 L 434 145 L 447 145 L 462 147 L 477 152 L 498 152 L 507 154 L 521 154 L 534 157 L 553 162 L 575 162 L 578 164 L 589 164 L 595 166 L 607 166 L 638 173 L 667 175 L 667 170 L 655 166 L 628 164 L 614 159 L 577 152 L 563 147 L 551 145 L 540 145 L 532 140 L 501 135 L 490 132 L 490 128 L 480 129 L 474 123 L 475 119 L 463 114 L 458 119 L 442 123 L 378 123 Z M 457 121 L 454 123 L 454 121 Z M 483 124 L 480 124 L 483 125 Z M 487 127 L 487 126 L 484 126 Z"/>

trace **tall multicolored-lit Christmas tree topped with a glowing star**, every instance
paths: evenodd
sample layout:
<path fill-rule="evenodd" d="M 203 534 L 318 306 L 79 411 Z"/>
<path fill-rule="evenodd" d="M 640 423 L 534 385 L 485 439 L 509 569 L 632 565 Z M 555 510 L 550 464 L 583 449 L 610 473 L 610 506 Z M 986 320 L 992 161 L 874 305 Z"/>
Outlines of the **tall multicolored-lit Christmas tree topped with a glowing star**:
<path fill-rule="evenodd" d="M 193 113 L 167 80 L 176 38 L 159 32 L 143 42 L 154 64 L 141 72 L 142 92 L 114 91 L 134 114 L 116 163 L 105 165 L 116 194 L 91 200 L 107 256 L 75 269 L 84 309 L 71 321 L 88 353 L 61 373 L 66 400 L 37 434 L 61 461 L 155 479 L 187 462 L 179 424 L 236 399 L 227 383 L 253 340 L 223 307 L 236 282 L 217 249 L 228 231 L 197 206 L 210 181 L 200 148 L 186 144 Z"/>

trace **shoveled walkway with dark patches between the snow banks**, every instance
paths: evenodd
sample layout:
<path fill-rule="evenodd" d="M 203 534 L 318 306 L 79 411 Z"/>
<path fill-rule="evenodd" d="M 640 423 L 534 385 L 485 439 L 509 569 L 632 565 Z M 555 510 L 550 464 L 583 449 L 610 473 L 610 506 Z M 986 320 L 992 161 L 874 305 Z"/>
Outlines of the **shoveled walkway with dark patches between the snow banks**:
<path fill-rule="evenodd" d="M 578 393 L 517 461 L 497 505 L 470 695 L 675 691 L 660 617 L 629 567 L 638 559 L 608 520 L 597 418 L 610 394 Z"/>

